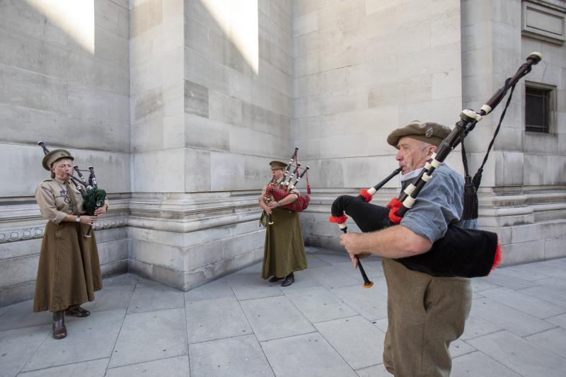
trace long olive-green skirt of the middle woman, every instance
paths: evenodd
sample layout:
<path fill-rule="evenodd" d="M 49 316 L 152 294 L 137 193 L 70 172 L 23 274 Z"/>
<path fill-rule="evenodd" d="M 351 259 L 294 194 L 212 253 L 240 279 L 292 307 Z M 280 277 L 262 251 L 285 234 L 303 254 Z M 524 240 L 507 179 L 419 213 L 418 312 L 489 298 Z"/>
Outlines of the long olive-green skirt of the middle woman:
<path fill-rule="evenodd" d="M 261 277 L 286 277 L 291 272 L 306 269 L 308 266 L 299 214 L 276 208 L 272 211 L 271 219 L 274 224 L 267 225 L 265 232 Z"/>

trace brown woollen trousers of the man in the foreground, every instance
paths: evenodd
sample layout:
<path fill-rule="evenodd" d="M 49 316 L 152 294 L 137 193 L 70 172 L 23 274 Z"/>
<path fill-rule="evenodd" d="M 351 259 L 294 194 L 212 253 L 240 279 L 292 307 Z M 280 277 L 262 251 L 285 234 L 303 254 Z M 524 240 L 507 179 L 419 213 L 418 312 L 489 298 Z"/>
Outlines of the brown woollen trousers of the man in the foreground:
<path fill-rule="evenodd" d="M 383 258 L 388 327 L 383 363 L 395 377 L 449 376 L 450 343 L 470 313 L 470 280 L 432 277 Z"/>

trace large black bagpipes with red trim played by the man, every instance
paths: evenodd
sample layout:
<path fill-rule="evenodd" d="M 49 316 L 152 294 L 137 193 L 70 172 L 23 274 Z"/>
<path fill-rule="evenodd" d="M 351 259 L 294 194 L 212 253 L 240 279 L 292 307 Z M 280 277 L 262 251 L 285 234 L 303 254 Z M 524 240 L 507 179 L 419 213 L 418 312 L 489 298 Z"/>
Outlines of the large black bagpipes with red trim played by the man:
<path fill-rule="evenodd" d="M 347 231 L 345 213 L 352 216 L 362 232 L 379 231 L 388 226 L 399 224 L 403 215 L 412 208 L 422 187 L 432 178 L 432 173 L 441 166 L 446 156 L 458 144 L 463 144 L 463 139 L 472 131 L 475 124 L 501 102 L 509 89 L 512 89 L 512 95 L 517 81 L 528 74 L 531 71 L 531 66 L 540 62 L 541 59 L 540 53 L 532 52 L 526 58 L 526 63 L 522 64 L 514 76 L 507 79 L 504 86 L 487 100 L 487 103 L 480 108 L 480 112 L 469 109 L 463 110 L 460 114 L 460 120 L 456 122 L 452 132 L 441 142 L 436 153 L 432 154 L 431 160 L 426 163 L 417 180 L 408 185 L 398 198 L 393 198 L 387 208 L 371 204 L 369 201 L 381 186 L 400 172 L 400 169 L 393 171 L 385 180 L 369 190 L 360 191 L 357 197 L 349 195 L 337 197 L 332 204 L 330 222 L 338 224 L 344 233 Z M 505 110 L 510 103 L 511 95 L 509 95 Z M 505 111 L 502 112 L 499 125 L 504 115 Z M 495 136 L 497 136 L 497 130 Z M 493 141 L 490 148 L 492 144 Z M 475 182 L 476 190 L 478 186 L 479 180 Z M 451 224 L 444 237 L 434 242 L 432 248 L 426 253 L 395 260 L 408 269 L 425 272 L 435 277 L 484 277 L 499 265 L 502 260 L 502 252 L 496 233 L 463 229 Z M 367 279 L 362 265 L 359 265 L 359 267 L 364 278 L 364 286 L 369 288 L 373 283 Z"/>

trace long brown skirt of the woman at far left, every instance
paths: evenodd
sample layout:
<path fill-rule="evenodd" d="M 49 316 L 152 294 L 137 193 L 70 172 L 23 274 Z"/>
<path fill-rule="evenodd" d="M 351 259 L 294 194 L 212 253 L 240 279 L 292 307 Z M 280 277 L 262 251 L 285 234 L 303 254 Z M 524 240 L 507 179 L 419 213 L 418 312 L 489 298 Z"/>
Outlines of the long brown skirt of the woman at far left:
<path fill-rule="evenodd" d="M 41 244 L 33 311 L 63 311 L 94 300 L 102 289 L 96 238 L 88 225 L 49 221 Z"/>

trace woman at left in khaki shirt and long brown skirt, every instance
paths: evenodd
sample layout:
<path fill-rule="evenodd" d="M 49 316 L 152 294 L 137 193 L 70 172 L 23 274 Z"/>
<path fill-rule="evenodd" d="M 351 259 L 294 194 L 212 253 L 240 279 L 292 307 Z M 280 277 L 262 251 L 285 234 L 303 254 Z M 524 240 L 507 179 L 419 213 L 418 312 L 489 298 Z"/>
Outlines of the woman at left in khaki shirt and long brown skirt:
<path fill-rule="evenodd" d="M 96 209 L 95 216 L 86 216 L 83 198 L 73 173 L 73 156 L 64 149 L 47 153 L 42 165 L 51 170 L 50 180 L 40 183 L 35 199 L 43 217 L 48 219 L 41 245 L 40 262 L 33 298 L 33 311 L 53 312 L 53 337 L 67 336 L 65 313 L 88 317 L 91 313 L 80 304 L 94 300 L 94 292 L 102 289 L 102 276 L 96 238 L 84 237 L 97 216 L 105 214 L 108 202 Z"/>

